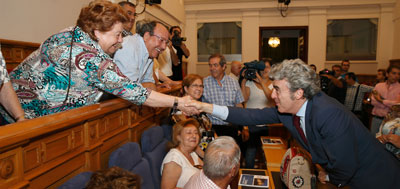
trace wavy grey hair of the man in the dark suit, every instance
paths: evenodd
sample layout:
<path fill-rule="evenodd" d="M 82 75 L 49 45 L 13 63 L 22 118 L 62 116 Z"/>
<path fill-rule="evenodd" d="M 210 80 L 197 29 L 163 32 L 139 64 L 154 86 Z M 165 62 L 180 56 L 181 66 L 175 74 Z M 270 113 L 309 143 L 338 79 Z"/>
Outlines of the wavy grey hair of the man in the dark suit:
<path fill-rule="evenodd" d="M 321 90 L 315 71 L 300 59 L 284 60 L 273 65 L 269 77 L 272 80 L 286 80 L 291 92 L 303 89 L 306 99 L 311 99 Z"/>

